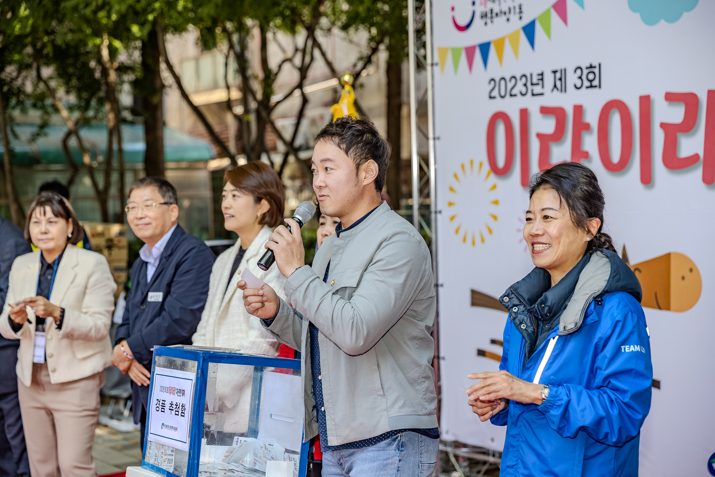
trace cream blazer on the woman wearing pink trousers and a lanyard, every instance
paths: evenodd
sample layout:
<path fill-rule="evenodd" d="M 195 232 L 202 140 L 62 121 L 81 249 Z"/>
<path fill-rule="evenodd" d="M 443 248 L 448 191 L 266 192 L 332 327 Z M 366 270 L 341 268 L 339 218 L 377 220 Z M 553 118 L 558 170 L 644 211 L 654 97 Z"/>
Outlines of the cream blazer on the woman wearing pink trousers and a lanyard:
<path fill-rule="evenodd" d="M 37 318 L 27 307 L 32 324 L 25 323 L 14 333 L 9 323 L 9 303 L 36 296 L 40 251 L 17 257 L 10 270 L 10 286 L 0 315 L 0 334 L 20 340 L 17 377 L 28 388 L 32 381 L 32 355 Z M 53 384 L 87 378 L 112 364 L 109 327 L 114 311 L 117 284 L 104 255 L 79 247 L 66 247 L 57 267 L 50 303 L 64 308 L 64 322 L 58 330 L 47 320 L 45 355 Z"/>

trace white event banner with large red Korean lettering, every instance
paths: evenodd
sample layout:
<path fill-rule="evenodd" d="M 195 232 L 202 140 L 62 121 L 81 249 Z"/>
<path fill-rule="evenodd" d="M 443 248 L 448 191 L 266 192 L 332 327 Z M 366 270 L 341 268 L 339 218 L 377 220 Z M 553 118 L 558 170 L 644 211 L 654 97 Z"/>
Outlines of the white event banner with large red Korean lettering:
<path fill-rule="evenodd" d="M 498 370 L 494 298 L 533 267 L 528 177 L 574 158 L 596 171 L 606 232 L 642 273 L 654 389 L 641 475 L 709 475 L 714 22 L 704 0 L 435 1 L 443 439 L 503 447 L 505 428 L 471 413 L 466 375 Z"/>

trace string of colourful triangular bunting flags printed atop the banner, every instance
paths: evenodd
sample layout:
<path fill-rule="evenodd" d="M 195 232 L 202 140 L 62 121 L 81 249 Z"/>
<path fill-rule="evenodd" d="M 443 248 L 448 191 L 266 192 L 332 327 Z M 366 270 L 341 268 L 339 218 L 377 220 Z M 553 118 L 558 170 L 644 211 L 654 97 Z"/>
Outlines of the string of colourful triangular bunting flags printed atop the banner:
<path fill-rule="evenodd" d="M 581 9 L 584 9 L 583 0 L 573 0 L 573 1 L 575 1 L 576 4 L 581 7 Z M 548 9 L 543 11 L 543 13 L 538 15 L 535 19 L 529 21 L 526 25 L 522 26 L 521 29 L 512 31 L 510 34 L 508 34 L 506 36 L 502 36 L 501 38 L 494 39 L 492 41 L 484 41 L 483 43 L 480 43 L 480 44 L 464 46 L 464 47 L 461 47 L 461 46 L 450 47 L 450 48 L 438 47 L 437 54 L 439 56 L 440 72 L 442 72 L 442 74 L 444 74 L 445 63 L 447 62 L 447 55 L 449 54 L 449 52 L 451 50 L 452 51 L 452 64 L 454 67 L 454 72 L 455 72 L 455 74 L 457 74 L 458 69 L 459 69 L 460 59 L 462 57 L 462 50 L 464 50 L 464 54 L 467 58 L 467 67 L 469 68 L 469 72 L 471 74 L 472 67 L 474 64 L 474 55 L 475 55 L 477 46 L 479 46 L 479 54 L 482 58 L 482 63 L 484 64 L 484 69 L 486 70 L 487 63 L 489 61 L 489 50 L 490 50 L 492 44 L 494 44 L 494 51 L 495 51 L 496 56 L 499 60 L 499 64 L 501 65 L 503 63 L 503 59 L 504 59 L 504 42 L 506 41 L 506 39 L 509 40 L 509 45 L 511 46 L 511 50 L 514 52 L 514 57 L 516 59 L 519 59 L 519 41 L 521 39 L 521 31 L 524 32 L 524 36 L 526 36 L 526 40 L 529 42 L 529 45 L 531 46 L 531 50 L 533 51 L 537 21 L 538 21 L 538 24 L 541 25 L 541 29 L 543 29 L 544 34 L 546 34 L 548 39 L 551 39 L 551 10 L 556 11 L 556 14 L 561 19 L 561 21 L 563 21 L 563 24 L 568 26 L 568 11 L 567 11 L 566 3 L 567 3 L 566 0 L 556 0 L 556 2 L 554 4 L 552 4 Z"/>

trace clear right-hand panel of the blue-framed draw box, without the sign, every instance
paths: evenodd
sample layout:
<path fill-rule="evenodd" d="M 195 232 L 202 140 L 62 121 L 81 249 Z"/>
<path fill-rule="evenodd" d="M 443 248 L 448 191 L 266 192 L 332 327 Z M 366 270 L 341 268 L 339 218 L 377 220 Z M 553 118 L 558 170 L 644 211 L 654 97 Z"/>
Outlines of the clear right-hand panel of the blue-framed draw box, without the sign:
<path fill-rule="evenodd" d="M 199 477 L 297 477 L 302 436 L 300 370 L 209 363 Z"/>

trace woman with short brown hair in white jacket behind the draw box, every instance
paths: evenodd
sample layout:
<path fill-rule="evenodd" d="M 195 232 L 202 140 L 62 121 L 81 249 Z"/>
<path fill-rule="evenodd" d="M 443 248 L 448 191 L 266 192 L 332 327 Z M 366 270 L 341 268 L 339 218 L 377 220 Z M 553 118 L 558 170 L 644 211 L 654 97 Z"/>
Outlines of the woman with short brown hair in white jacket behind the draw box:
<path fill-rule="evenodd" d="M 278 267 L 260 270 L 256 263 L 266 251 L 263 245 L 283 222 L 285 192 L 278 174 L 262 162 L 250 162 L 226 172 L 221 210 L 226 230 L 238 240 L 214 262 L 209 296 L 192 343 L 197 346 L 233 348 L 241 353 L 277 355 L 280 343 L 247 313 L 237 282 L 244 270 L 263 280 L 282 295 L 285 277 Z M 249 372 L 250 371 L 250 372 Z M 217 400 L 212 412 L 226 413 L 225 432 L 247 431 L 252 368 L 220 365 Z"/>

